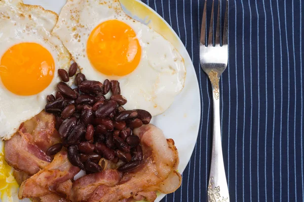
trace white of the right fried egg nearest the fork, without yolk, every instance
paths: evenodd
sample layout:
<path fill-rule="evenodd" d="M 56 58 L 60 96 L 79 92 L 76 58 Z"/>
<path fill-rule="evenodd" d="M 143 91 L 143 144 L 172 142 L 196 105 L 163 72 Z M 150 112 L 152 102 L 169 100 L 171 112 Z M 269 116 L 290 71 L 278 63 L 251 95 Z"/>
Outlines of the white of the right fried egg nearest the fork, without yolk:
<path fill-rule="evenodd" d="M 142 49 L 138 67 L 122 77 L 95 70 L 86 52 L 92 30 L 111 19 L 128 24 L 137 34 Z M 53 33 L 62 40 L 87 79 L 119 80 L 122 95 L 128 99 L 124 106 L 127 110 L 144 109 L 153 116 L 161 114 L 184 86 L 184 61 L 175 47 L 153 29 L 127 16 L 118 0 L 68 0 Z"/>

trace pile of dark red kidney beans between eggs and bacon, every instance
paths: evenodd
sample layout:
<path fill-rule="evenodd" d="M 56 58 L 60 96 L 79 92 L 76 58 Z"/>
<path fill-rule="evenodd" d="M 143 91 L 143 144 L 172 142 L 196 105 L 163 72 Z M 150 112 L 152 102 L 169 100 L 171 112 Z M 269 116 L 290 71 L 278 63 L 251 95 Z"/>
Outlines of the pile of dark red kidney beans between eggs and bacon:
<path fill-rule="evenodd" d="M 68 73 L 59 69 L 62 81 L 74 76 L 78 66 L 72 64 Z M 87 173 L 100 172 L 98 164 L 104 158 L 113 163 L 125 162 L 118 168 L 121 172 L 135 169 L 142 161 L 140 139 L 133 135 L 133 128 L 148 124 L 151 114 L 145 110 L 125 110 L 127 99 L 121 95 L 120 84 L 116 80 L 86 80 L 78 73 L 75 77 L 77 88 L 72 89 L 64 82 L 57 84 L 56 95 L 48 95 L 45 111 L 56 117 L 56 129 L 63 143 L 55 144 L 47 150 L 52 156 L 62 146 L 67 147 L 68 159 Z M 105 94 L 111 91 L 109 99 Z"/>

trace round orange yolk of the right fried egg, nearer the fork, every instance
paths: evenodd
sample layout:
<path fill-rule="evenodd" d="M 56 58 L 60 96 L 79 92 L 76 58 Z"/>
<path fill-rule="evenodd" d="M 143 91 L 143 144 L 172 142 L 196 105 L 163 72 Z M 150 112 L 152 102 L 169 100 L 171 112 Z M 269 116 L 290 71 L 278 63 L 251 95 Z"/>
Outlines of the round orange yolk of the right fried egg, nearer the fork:
<path fill-rule="evenodd" d="M 129 25 L 108 20 L 90 34 L 87 55 L 92 66 L 102 74 L 124 76 L 138 66 L 141 47 Z"/>

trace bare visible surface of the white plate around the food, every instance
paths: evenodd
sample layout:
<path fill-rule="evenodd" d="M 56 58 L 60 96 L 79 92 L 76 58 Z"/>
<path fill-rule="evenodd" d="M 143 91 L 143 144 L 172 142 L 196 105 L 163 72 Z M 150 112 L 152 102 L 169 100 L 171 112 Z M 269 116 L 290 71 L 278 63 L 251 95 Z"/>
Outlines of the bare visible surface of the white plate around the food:
<path fill-rule="evenodd" d="M 24 0 L 25 4 L 41 5 L 45 9 L 55 11 L 58 14 L 65 2 L 65 0 Z M 167 138 L 174 139 L 180 158 L 178 171 L 181 173 L 191 158 L 197 141 L 201 117 L 200 91 L 194 66 L 177 34 L 153 9 L 137 0 L 120 0 L 120 2 L 126 14 L 162 34 L 178 49 L 184 58 L 187 70 L 184 89 L 165 113 L 154 117 L 152 120 L 153 124 L 164 131 Z M 156 201 L 160 201 L 164 196 L 165 194 L 159 195 Z"/>

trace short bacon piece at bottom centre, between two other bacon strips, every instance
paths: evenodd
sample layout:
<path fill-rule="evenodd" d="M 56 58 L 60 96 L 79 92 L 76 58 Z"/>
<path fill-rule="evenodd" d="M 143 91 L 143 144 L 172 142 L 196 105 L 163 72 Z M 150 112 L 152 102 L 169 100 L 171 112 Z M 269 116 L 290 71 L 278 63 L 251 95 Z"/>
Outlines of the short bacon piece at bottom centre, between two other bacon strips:
<path fill-rule="evenodd" d="M 85 175 L 73 183 L 74 201 L 86 200 L 99 185 L 114 186 L 121 180 L 121 173 L 117 170 Z"/>

